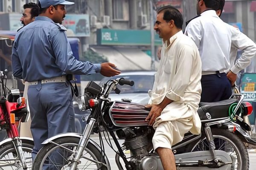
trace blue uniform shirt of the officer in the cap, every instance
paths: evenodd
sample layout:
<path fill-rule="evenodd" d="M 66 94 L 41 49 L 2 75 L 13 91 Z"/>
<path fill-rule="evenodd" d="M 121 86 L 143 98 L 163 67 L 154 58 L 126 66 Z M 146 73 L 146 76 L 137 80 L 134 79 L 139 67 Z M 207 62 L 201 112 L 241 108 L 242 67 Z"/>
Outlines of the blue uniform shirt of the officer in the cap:
<path fill-rule="evenodd" d="M 66 28 L 48 17 L 36 17 L 15 36 L 12 72 L 27 82 L 65 74 L 93 74 L 100 64 L 75 59 L 65 34 Z"/>

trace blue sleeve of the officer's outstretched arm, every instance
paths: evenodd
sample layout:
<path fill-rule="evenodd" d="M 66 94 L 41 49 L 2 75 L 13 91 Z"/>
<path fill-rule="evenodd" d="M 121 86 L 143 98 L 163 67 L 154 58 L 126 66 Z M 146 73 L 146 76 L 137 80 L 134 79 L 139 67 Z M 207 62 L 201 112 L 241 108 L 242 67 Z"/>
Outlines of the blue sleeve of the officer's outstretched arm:
<path fill-rule="evenodd" d="M 63 30 L 57 30 L 52 36 L 52 50 L 56 57 L 55 64 L 67 74 L 93 74 L 101 70 L 100 64 L 75 59 Z"/>

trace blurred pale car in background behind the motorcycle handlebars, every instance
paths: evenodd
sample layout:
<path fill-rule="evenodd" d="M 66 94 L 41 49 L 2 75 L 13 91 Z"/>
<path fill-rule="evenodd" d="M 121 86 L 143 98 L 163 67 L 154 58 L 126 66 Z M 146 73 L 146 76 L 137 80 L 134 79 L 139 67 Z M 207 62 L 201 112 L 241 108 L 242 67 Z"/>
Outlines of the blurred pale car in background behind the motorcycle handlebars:
<path fill-rule="evenodd" d="M 121 101 L 122 99 L 131 99 L 131 102 L 147 104 L 149 100 L 148 91 L 153 88 L 155 71 L 133 71 L 121 73 L 114 77 L 105 77 L 99 85 L 103 85 L 110 79 L 125 78 L 134 81 L 133 86 L 117 85 L 121 91 L 120 94 L 115 94 L 111 91 L 109 98 L 111 101 Z"/>

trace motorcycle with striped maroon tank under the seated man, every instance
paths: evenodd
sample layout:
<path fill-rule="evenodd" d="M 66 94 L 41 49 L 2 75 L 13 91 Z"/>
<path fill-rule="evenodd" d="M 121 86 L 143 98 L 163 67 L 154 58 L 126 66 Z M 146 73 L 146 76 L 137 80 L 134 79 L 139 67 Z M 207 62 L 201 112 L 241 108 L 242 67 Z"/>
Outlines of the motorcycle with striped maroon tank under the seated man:
<path fill-rule="evenodd" d="M 123 170 L 120 157 L 127 170 L 163 170 L 151 142 L 154 129 L 145 121 L 150 109 L 129 99 L 112 102 L 108 95 L 112 90 L 120 93 L 117 84 L 132 86 L 134 82 L 119 78 L 102 87 L 95 82 L 87 85 L 78 100 L 80 110 L 92 109 L 84 120 L 83 134 L 63 133 L 44 141 L 33 170 L 110 170 L 103 136 L 112 149 L 110 136 L 113 138 L 119 170 Z M 186 133 L 182 142 L 172 147 L 177 170 L 249 170 L 243 142 L 256 142 L 247 133 L 250 127 L 243 117 L 251 113 L 252 105 L 243 102 L 240 94 L 221 102 L 200 103 L 201 134 Z M 92 132 L 99 133 L 100 144 L 90 139 Z M 116 136 L 124 139 L 122 146 Z M 130 150 L 131 156 L 127 158 L 124 150 Z"/>

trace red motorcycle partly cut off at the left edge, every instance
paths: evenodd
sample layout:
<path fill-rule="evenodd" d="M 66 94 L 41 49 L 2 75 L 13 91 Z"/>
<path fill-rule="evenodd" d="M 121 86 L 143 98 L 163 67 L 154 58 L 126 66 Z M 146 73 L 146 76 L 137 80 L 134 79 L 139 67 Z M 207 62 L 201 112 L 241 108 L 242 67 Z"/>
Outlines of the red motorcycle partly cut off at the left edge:
<path fill-rule="evenodd" d="M 18 89 L 6 87 L 6 73 L 0 71 L 0 130 L 6 130 L 8 138 L 0 142 L 0 170 L 27 170 L 32 168 L 33 139 L 20 137 L 20 122 L 27 117 L 26 100 Z"/>

